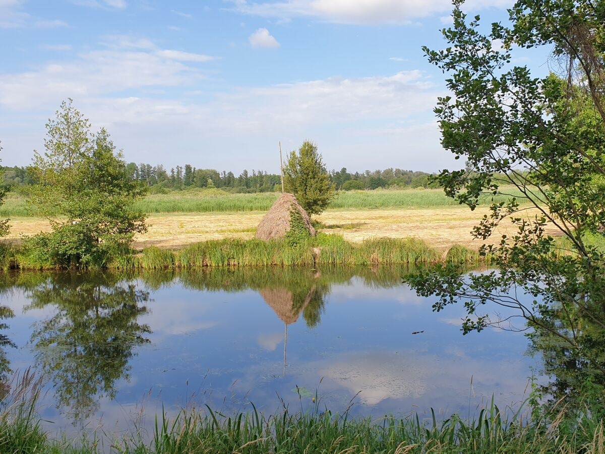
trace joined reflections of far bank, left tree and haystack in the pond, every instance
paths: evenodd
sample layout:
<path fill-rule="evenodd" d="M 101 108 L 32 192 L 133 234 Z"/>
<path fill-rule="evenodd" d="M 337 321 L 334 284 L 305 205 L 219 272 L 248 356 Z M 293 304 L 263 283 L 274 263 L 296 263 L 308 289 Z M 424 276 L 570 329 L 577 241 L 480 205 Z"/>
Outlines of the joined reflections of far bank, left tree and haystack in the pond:
<path fill-rule="evenodd" d="M 31 343 L 36 366 L 53 383 L 57 406 L 77 421 L 90 416 L 100 398 L 113 398 L 120 381 L 129 379 L 129 361 L 137 346 L 149 341 L 146 335 L 152 327 L 138 320 L 148 313 L 149 292 L 155 289 L 174 285 L 200 291 L 252 289 L 286 326 L 302 317 L 313 327 L 321 323 L 332 285 L 357 280 L 372 288 L 393 288 L 401 285 L 402 276 L 409 271 L 365 266 L 23 272 L 0 275 L 0 291 L 20 289 L 30 300 L 25 310 L 46 309 L 53 314 L 34 324 Z"/>

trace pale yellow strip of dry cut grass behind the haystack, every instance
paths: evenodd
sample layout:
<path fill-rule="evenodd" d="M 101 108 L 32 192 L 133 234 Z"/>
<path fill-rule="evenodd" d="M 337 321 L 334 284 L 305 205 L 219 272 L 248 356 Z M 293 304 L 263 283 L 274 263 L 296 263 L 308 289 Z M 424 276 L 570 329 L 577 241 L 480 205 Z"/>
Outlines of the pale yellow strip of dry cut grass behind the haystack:
<path fill-rule="evenodd" d="M 440 207 L 419 209 L 330 209 L 315 217 L 328 228 L 325 233 L 341 234 L 345 240 L 361 243 L 375 237 L 416 237 L 437 249 L 448 249 L 454 244 L 477 249 L 480 242 L 473 240 L 471 231 L 487 208 L 470 211 L 465 207 Z M 250 239 L 254 237 L 264 211 L 174 213 L 149 215 L 149 231 L 136 237 L 134 247 L 148 246 L 180 249 L 183 246 L 206 240 L 226 238 Z M 537 212 L 528 210 L 526 216 Z M 48 221 L 34 217 L 14 217 L 10 220 L 9 239 L 18 240 L 21 235 L 32 235 L 50 229 Z M 492 241 L 500 235 L 514 232 L 514 226 L 504 222 Z M 557 234 L 551 229 L 551 234 Z"/>

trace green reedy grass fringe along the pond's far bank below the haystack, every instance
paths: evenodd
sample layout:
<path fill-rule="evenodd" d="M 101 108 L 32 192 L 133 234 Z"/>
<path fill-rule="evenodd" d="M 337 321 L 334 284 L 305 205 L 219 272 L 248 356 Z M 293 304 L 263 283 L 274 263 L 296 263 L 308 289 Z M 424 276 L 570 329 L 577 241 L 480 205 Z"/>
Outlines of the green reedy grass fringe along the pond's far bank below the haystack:
<path fill-rule="evenodd" d="M 1 269 L 52 269 L 53 262 L 39 262 L 37 251 L 26 246 L 0 249 Z M 483 262 L 476 251 L 456 245 L 445 254 L 416 238 L 368 239 L 349 243 L 341 235 L 318 234 L 292 245 L 287 240 L 225 239 L 195 243 L 178 251 L 150 246 L 140 253 L 123 251 L 107 257 L 98 268 L 110 269 L 192 269 L 225 266 L 318 266 Z"/>

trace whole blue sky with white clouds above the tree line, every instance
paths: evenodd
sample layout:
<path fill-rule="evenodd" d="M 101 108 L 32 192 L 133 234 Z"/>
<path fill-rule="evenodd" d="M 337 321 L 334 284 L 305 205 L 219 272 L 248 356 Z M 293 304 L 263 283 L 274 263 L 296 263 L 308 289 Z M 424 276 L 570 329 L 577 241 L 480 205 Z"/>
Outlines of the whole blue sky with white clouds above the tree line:
<path fill-rule="evenodd" d="M 510 0 L 465 10 L 505 21 Z M 0 0 L 0 158 L 44 151 L 62 100 L 128 162 L 277 172 L 313 140 L 329 169 L 460 168 L 433 107 L 446 0 Z M 548 53 L 515 57 L 540 71 Z M 463 163 L 462 163 L 463 165 Z"/>

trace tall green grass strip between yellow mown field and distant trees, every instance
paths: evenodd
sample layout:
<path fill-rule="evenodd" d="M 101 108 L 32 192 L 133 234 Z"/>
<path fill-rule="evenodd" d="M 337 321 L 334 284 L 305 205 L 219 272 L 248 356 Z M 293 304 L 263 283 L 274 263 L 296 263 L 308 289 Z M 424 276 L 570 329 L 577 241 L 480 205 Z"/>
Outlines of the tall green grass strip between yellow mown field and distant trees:
<path fill-rule="evenodd" d="M 519 196 L 514 189 L 509 191 Z M 279 196 L 276 192 L 260 194 L 228 194 L 219 189 L 174 191 L 169 194 L 151 194 L 136 202 L 134 208 L 146 213 L 171 212 L 229 212 L 229 211 L 267 211 Z M 496 197 L 502 202 L 508 197 Z M 491 203 L 491 197 L 483 200 Z M 433 208 L 452 206 L 458 203 L 445 196 L 443 189 L 405 189 L 375 191 L 341 191 L 330 209 L 373 209 L 373 208 Z M 25 197 L 15 192 L 7 195 L 4 205 L 0 206 L 0 217 L 36 215 L 28 212 Z"/>

